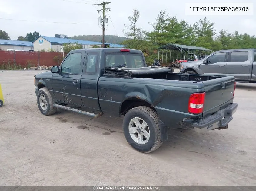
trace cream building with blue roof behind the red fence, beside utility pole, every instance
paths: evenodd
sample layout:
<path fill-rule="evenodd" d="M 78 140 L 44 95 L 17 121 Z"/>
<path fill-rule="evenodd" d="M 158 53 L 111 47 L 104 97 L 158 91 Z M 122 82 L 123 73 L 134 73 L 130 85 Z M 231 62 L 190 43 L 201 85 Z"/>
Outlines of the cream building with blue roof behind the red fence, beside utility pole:
<path fill-rule="evenodd" d="M 56 35 L 55 35 L 56 36 Z M 100 42 L 93 42 L 87 40 L 75 40 L 62 37 L 45 37 L 39 36 L 32 43 L 34 45 L 34 51 L 42 50 L 48 51 L 50 49 L 55 51 L 62 51 L 62 46 L 65 43 L 76 43 L 81 44 L 83 48 L 91 48 L 93 45 L 102 46 Z M 105 43 L 105 46 L 110 48 L 122 48 L 124 45 Z"/>

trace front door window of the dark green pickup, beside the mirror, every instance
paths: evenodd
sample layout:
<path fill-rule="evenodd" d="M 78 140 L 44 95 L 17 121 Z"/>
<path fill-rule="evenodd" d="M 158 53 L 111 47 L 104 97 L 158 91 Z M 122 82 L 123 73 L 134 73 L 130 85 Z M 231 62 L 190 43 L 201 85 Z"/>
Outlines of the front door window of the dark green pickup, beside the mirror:
<path fill-rule="evenodd" d="M 62 73 L 79 74 L 82 53 L 73 53 L 63 61 L 61 65 Z"/>

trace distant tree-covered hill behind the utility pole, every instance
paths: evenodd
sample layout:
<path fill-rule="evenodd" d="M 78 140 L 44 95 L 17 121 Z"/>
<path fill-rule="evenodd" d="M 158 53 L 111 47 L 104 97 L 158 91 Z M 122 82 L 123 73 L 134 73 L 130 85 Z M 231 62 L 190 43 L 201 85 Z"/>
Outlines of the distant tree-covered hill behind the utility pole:
<path fill-rule="evenodd" d="M 88 40 L 95 42 L 102 42 L 102 35 L 78 35 L 73 37 L 68 37 L 76 40 Z M 125 37 L 118 37 L 116 35 L 105 35 L 105 42 L 112 44 L 120 44 L 124 40 L 127 40 Z"/>

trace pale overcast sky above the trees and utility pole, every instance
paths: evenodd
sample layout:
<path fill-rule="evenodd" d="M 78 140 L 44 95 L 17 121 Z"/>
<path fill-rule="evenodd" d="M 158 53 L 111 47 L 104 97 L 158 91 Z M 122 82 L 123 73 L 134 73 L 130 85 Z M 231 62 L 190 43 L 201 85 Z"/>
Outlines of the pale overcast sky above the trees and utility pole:
<path fill-rule="evenodd" d="M 72 2 L 69 2 L 72 1 Z M 179 20 L 186 20 L 193 24 L 204 16 L 186 16 L 185 3 L 194 2 L 191 0 L 171 1 L 171 0 L 110 0 L 108 5 L 111 11 L 108 12 L 113 24 L 109 19 L 105 35 L 124 36 L 122 30 L 124 24 L 129 24 L 128 16 L 132 14 L 133 9 L 140 11 L 138 27 L 143 30 L 152 30 L 148 22 L 154 22 L 160 10 L 167 10 L 170 15 L 175 15 Z M 79 3 L 76 3 L 79 2 Z M 88 35 L 102 34 L 98 26 L 97 10 L 101 6 L 92 5 L 99 0 L 0 0 L 0 18 L 33 20 L 47 22 L 14 21 L 0 19 L 0 29 L 5 30 L 11 39 L 17 40 L 18 36 L 25 36 L 28 32 L 38 31 L 42 36 L 54 37 L 55 34 Z M 205 0 L 197 0 L 197 3 L 205 3 Z M 210 1 L 208 1 L 210 2 Z M 211 2 L 241 2 L 241 0 L 212 0 Z M 244 3 L 253 3 L 254 0 L 244 0 Z M 88 3 L 88 4 L 87 4 Z M 221 29 L 227 29 L 233 33 L 238 30 L 240 33 L 249 33 L 256 35 L 256 2 L 254 3 L 253 16 L 206 16 L 211 22 L 215 22 L 215 28 L 218 32 Z M 107 17 L 109 18 L 109 15 Z M 78 23 L 78 24 L 71 24 Z M 113 27 L 114 25 L 114 27 Z"/>

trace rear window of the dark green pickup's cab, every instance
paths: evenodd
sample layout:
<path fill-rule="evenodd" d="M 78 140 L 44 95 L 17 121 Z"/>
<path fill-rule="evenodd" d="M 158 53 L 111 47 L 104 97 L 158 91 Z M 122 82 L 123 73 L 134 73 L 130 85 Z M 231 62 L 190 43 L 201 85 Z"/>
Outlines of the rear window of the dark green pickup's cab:
<path fill-rule="evenodd" d="M 145 67 L 143 56 L 141 54 L 131 53 L 107 53 L 106 67 L 117 68 L 141 68 Z"/>

